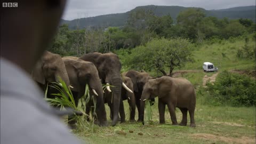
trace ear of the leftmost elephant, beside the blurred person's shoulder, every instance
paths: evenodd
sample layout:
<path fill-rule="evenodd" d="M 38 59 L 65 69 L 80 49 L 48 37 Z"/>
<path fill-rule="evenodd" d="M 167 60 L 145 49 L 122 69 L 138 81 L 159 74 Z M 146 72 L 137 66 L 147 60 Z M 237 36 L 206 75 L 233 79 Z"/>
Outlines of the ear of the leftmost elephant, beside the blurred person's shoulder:
<path fill-rule="evenodd" d="M 32 78 L 41 84 L 45 84 L 45 77 L 44 77 L 44 73 L 43 73 L 43 62 L 41 60 L 39 60 L 36 63 L 36 66 L 34 68 L 34 70 L 31 73 Z"/>

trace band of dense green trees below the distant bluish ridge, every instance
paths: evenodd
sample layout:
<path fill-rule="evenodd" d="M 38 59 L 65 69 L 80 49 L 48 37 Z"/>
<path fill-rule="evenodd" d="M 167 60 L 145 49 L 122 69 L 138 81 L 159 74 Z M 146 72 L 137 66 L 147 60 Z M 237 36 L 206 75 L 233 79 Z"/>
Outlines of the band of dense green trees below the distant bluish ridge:
<path fill-rule="evenodd" d="M 200 44 L 211 39 L 255 36 L 255 22 L 250 19 L 208 17 L 203 9 L 181 11 L 174 22 L 171 15 L 157 16 L 151 10 L 138 9 L 126 18 L 123 27 L 69 29 L 61 25 L 50 51 L 61 55 L 80 56 L 89 52 L 113 52 L 145 46 L 153 39 L 187 39 Z"/>

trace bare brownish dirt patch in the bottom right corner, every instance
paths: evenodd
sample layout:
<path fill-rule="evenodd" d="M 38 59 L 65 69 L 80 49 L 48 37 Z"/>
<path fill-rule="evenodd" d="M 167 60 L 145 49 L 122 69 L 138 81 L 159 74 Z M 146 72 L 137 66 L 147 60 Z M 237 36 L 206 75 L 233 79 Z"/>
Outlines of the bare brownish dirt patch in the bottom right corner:
<path fill-rule="evenodd" d="M 195 134 L 191 134 L 191 137 L 195 139 L 218 140 L 218 141 L 224 141 L 227 143 L 242 143 L 242 144 L 255 143 L 255 138 L 249 138 L 249 137 L 230 138 L 230 137 L 222 137 L 222 136 L 217 136 L 217 135 L 207 134 L 207 133 L 195 133 Z"/>

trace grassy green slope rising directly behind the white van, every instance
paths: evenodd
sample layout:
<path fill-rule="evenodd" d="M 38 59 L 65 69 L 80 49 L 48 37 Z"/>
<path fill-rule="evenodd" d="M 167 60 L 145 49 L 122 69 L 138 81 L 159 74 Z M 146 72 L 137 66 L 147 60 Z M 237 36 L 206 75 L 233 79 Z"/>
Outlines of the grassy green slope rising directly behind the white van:
<path fill-rule="evenodd" d="M 212 62 L 219 71 L 231 69 L 255 69 L 255 60 L 239 59 L 236 52 L 245 41 L 243 38 L 237 38 L 236 41 L 222 40 L 220 43 L 204 43 L 195 46 L 193 52 L 193 63 L 187 63 L 181 70 L 202 70 L 203 62 Z M 255 47 L 255 40 L 250 39 L 249 46 Z M 223 55 L 224 54 L 224 55 Z M 177 68 L 175 70 L 178 70 Z"/>

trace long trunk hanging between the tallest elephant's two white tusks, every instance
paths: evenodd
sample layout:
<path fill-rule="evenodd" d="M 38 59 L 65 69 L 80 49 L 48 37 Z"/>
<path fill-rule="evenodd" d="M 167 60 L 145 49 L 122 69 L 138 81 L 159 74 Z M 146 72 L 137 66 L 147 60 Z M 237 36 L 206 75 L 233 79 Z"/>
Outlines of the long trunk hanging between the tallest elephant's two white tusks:
<path fill-rule="evenodd" d="M 113 90 L 113 122 L 112 126 L 115 126 L 118 121 L 118 113 L 119 113 L 119 106 L 121 101 L 121 89 L 122 89 L 122 80 L 120 77 L 120 74 L 115 74 L 111 78 L 111 85 L 114 87 L 111 87 Z"/>

